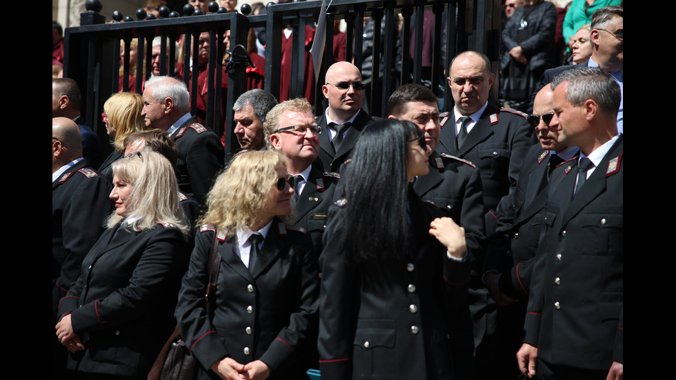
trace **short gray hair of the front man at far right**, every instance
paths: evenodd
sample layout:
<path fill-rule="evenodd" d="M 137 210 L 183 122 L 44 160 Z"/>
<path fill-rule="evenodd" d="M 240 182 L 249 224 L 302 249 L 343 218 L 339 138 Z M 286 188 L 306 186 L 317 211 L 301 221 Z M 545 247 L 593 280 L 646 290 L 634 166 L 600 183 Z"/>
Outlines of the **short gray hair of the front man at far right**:
<path fill-rule="evenodd" d="M 595 101 L 599 108 L 609 114 L 616 114 L 622 101 L 619 85 L 602 68 L 574 68 L 554 77 L 552 90 L 561 83 L 568 82 L 566 101 L 575 107 L 581 106 L 587 99 Z"/>

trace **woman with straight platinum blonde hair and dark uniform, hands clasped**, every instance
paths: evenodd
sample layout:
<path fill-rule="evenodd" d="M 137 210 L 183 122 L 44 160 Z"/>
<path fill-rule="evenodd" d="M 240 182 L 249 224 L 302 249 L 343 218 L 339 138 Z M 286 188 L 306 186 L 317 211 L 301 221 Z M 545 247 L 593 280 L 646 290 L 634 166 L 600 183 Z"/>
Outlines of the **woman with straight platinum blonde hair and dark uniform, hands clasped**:
<path fill-rule="evenodd" d="M 57 337 L 77 379 L 145 379 L 175 326 L 186 223 L 169 161 L 144 150 L 112 164 L 108 229 L 59 302 Z"/>

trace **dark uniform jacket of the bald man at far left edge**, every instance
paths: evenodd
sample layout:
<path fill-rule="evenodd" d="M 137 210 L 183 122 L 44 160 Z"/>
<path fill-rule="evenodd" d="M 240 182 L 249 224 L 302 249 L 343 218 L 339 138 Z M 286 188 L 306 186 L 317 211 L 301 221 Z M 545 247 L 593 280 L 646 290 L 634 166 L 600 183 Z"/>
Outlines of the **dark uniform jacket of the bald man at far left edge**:
<path fill-rule="evenodd" d="M 52 312 L 103 233 L 103 219 L 113 206 L 110 190 L 110 183 L 86 159 L 52 182 Z"/>

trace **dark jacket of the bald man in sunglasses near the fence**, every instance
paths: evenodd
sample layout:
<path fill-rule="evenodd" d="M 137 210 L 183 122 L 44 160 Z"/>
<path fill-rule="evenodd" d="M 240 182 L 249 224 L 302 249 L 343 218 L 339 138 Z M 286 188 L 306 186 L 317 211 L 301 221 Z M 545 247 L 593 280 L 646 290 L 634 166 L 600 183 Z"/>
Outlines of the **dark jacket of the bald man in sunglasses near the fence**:
<path fill-rule="evenodd" d="M 336 152 L 331 141 L 328 139 L 326 113 L 317 118 L 317 126 L 321 127 L 321 133 L 319 134 L 319 157 L 317 157 L 316 162 L 321 163 L 321 170 L 324 170 L 324 172 L 340 172 L 343 164 L 350 157 L 352 148 L 355 148 L 357 139 L 359 139 L 359 133 L 364 130 L 366 123 L 370 120 L 371 117 L 368 116 L 368 113 L 364 110 L 359 110 L 355 122 L 348 128 L 348 132 L 340 143 L 338 152 Z"/>

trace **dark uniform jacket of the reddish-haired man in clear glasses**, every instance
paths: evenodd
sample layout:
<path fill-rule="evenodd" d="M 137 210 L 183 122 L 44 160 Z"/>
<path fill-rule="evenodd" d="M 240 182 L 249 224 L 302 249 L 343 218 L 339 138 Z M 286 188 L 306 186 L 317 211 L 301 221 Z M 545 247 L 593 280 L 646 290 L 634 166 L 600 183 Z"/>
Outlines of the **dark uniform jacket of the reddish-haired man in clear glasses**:
<path fill-rule="evenodd" d="M 321 254 L 321 237 L 326 229 L 328 208 L 333 204 L 333 196 L 340 175 L 332 172 L 321 172 L 312 165 L 310 177 L 306 181 L 303 192 L 299 194 L 294 208 L 296 223 L 294 226 L 304 228 L 315 246 L 315 254 Z"/>

